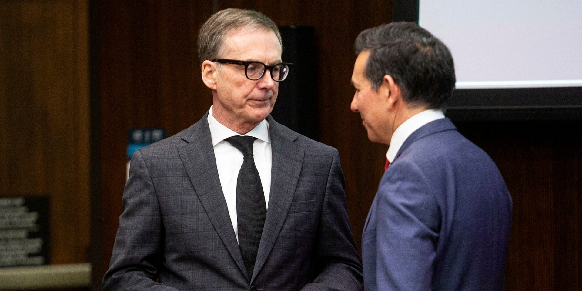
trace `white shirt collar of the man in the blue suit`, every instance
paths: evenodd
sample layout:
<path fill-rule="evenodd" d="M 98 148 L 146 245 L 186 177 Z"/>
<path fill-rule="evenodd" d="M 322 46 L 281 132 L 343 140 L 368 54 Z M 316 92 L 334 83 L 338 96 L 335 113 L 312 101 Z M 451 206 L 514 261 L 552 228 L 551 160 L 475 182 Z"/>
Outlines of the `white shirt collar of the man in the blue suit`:
<path fill-rule="evenodd" d="M 420 127 L 423 127 L 427 123 L 445 118 L 445 114 L 440 109 L 428 109 L 423 112 L 417 113 L 411 118 L 404 121 L 392 134 L 392 139 L 390 140 L 390 147 L 388 147 L 388 152 L 386 152 L 386 158 L 389 162 L 394 161 L 396 154 L 404 144 L 404 141 L 408 139 L 410 134 L 415 132 Z"/>

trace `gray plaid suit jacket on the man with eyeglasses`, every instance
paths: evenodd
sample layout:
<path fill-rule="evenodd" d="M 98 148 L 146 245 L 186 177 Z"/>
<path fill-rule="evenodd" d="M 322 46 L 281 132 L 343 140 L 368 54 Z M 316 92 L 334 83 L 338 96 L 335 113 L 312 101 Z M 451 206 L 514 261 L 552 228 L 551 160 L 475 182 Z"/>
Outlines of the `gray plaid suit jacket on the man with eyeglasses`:
<path fill-rule="evenodd" d="M 247 274 L 207 116 L 133 155 L 104 290 L 361 290 L 338 151 L 268 117 L 271 195 Z"/>

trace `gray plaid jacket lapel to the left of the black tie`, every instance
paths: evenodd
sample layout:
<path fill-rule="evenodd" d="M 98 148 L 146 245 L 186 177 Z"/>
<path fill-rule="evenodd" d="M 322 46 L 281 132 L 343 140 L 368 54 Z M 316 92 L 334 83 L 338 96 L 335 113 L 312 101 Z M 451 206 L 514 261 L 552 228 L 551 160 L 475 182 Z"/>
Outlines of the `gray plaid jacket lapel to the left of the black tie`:
<path fill-rule="evenodd" d="M 178 152 L 210 222 L 240 270 L 249 278 L 222 193 L 207 117 L 208 112 L 184 135 L 182 139 L 188 144 Z"/>

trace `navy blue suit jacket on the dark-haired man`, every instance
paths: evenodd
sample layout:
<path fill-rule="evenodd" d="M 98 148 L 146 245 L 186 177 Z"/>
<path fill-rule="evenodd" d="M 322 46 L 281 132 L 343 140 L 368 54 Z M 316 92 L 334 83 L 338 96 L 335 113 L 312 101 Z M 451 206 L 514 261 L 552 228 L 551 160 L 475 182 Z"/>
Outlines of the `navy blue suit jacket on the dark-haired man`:
<path fill-rule="evenodd" d="M 489 156 L 448 118 L 404 142 L 368 213 L 366 291 L 504 289 L 512 200 Z"/>

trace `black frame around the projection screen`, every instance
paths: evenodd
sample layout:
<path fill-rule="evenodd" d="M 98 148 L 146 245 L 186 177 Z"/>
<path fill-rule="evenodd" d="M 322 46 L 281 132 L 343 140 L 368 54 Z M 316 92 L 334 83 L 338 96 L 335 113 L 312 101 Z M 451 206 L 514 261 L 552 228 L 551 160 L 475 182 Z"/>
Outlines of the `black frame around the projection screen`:
<path fill-rule="evenodd" d="M 392 20 L 418 23 L 419 6 L 419 0 L 394 0 Z M 467 121 L 582 120 L 582 87 L 455 89 L 446 115 Z"/>

